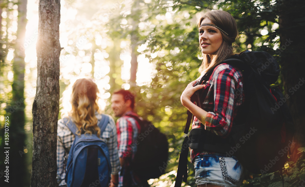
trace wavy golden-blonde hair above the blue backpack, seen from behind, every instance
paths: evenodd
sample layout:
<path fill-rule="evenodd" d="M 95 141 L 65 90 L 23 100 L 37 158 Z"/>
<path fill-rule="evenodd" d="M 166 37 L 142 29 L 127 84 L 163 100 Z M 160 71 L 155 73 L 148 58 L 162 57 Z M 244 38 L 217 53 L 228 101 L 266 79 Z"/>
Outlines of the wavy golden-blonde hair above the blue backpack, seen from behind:
<path fill-rule="evenodd" d="M 72 110 L 69 116 L 78 128 L 78 134 L 81 132 L 95 133 L 100 136 L 101 130 L 97 126 L 98 119 L 95 112 L 99 110 L 97 104 L 97 93 L 99 89 L 91 79 L 78 79 L 72 86 L 72 95 L 70 102 Z"/>

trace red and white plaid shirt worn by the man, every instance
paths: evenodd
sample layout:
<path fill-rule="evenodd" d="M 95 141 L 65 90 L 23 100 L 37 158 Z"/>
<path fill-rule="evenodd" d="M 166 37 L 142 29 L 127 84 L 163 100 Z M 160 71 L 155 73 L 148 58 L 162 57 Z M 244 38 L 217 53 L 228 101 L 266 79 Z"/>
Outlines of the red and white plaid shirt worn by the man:
<path fill-rule="evenodd" d="M 128 114 L 138 116 L 138 114 L 128 111 L 117 120 L 119 157 L 125 160 L 119 173 L 119 187 L 138 185 L 141 181 L 130 169 L 130 161 L 137 151 L 135 141 L 138 139 L 140 126 L 133 117 L 126 116 Z"/>

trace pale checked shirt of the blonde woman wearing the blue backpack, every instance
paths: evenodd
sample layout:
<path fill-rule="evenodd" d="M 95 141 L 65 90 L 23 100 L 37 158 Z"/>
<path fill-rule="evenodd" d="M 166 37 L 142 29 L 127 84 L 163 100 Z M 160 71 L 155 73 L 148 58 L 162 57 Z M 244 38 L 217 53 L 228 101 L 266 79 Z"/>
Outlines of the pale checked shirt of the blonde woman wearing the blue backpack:
<path fill-rule="evenodd" d="M 98 123 L 102 119 L 102 115 L 95 114 Z M 115 128 L 114 120 L 109 116 L 109 122 L 105 131 L 100 136 L 107 144 L 109 149 L 110 163 L 112 167 L 111 174 L 118 174 L 120 167 L 120 160 L 117 153 L 117 130 Z M 58 185 L 66 185 L 66 160 L 75 136 L 63 122 L 63 119 L 58 120 L 57 127 L 57 183 Z"/>

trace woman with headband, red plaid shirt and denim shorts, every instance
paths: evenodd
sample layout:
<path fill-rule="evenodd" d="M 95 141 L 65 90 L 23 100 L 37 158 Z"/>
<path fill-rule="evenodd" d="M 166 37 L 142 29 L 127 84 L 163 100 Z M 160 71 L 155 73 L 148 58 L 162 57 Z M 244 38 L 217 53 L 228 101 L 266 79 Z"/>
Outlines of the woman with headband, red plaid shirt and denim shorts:
<path fill-rule="evenodd" d="M 199 19 L 198 27 L 203 55 L 199 67 L 201 76 L 185 88 L 181 103 L 195 116 L 192 129 L 203 128 L 221 142 L 228 137 L 232 121 L 244 101 L 242 71 L 226 63 L 220 64 L 234 55 L 232 43 L 238 36 L 238 30 L 234 18 L 221 10 L 205 13 Z M 198 84 L 201 77 L 212 69 L 213 73 L 207 81 Z M 201 107 L 191 101 L 197 90 Z M 190 151 L 198 187 L 235 187 L 242 184 L 243 167 L 235 156 L 192 148 Z"/>

